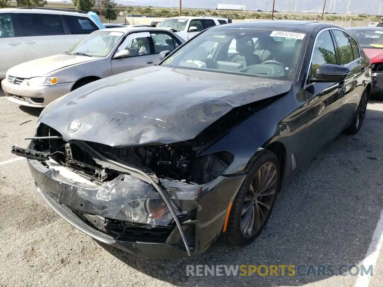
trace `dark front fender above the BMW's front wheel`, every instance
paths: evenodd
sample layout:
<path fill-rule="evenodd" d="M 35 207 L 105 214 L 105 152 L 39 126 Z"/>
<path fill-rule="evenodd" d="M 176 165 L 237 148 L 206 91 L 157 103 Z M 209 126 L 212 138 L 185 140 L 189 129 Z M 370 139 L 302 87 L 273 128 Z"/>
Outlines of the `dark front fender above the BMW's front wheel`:
<path fill-rule="evenodd" d="M 258 153 L 274 142 L 282 143 L 286 155 L 289 155 L 290 145 L 298 139 L 297 134 L 304 130 L 303 104 L 296 100 L 293 93 L 282 96 L 238 124 L 204 150 L 203 154 L 222 150 L 231 152 L 234 161 L 223 172 L 225 175 L 246 173 Z M 287 156 L 285 165 L 289 164 L 289 160 Z"/>

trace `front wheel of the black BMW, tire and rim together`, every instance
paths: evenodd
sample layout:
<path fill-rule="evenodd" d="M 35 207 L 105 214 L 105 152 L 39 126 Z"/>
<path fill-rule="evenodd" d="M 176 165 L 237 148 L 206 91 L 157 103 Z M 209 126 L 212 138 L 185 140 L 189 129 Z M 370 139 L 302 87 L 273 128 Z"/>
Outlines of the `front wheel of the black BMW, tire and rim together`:
<path fill-rule="evenodd" d="M 265 227 L 280 188 L 280 163 L 275 153 L 263 150 L 249 168 L 232 204 L 227 240 L 233 246 L 246 246 Z"/>

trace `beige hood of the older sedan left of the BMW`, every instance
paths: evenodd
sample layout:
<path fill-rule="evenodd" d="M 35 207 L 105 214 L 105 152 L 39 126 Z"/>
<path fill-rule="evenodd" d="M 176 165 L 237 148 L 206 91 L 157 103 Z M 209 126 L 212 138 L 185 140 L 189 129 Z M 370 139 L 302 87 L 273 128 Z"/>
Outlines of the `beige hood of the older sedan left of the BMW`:
<path fill-rule="evenodd" d="M 82 55 L 59 54 L 22 63 L 10 68 L 7 74 L 13 77 L 29 79 L 33 77 L 45 76 L 46 74 L 61 68 L 97 59 L 99 58 Z"/>

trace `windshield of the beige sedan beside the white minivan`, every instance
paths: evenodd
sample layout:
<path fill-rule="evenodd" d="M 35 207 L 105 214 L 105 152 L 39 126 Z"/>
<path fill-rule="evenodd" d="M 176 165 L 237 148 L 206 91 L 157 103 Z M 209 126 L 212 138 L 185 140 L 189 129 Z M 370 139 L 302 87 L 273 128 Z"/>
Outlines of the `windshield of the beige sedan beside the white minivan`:
<path fill-rule="evenodd" d="M 67 50 L 67 54 L 105 57 L 113 50 L 124 32 L 96 31 Z"/>

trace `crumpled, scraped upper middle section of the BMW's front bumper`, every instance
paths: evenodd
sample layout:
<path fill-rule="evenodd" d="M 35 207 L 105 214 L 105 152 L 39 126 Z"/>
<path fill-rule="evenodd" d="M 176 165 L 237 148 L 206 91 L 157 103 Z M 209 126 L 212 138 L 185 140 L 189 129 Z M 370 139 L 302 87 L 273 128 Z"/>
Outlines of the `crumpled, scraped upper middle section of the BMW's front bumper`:
<path fill-rule="evenodd" d="M 101 186 L 69 183 L 68 179 L 60 179 L 60 174 L 53 169 L 40 178 L 46 181 L 41 187 L 49 186 L 49 190 L 44 188 L 49 196 L 76 211 L 151 225 L 168 225 L 173 219 L 167 208 L 170 216 L 152 217 L 148 207 L 166 207 L 162 197 L 152 185 L 128 174 L 121 174 Z M 176 213 L 180 214 L 177 210 Z"/>

